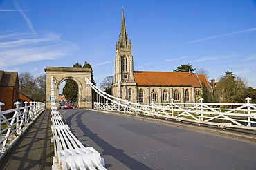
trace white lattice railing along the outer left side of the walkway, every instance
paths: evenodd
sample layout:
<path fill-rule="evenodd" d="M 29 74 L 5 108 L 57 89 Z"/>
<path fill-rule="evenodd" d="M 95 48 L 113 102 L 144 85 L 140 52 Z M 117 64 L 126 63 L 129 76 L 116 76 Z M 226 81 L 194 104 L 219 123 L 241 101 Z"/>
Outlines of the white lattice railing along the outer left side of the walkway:
<path fill-rule="evenodd" d="M 15 109 L 1 111 L 4 103 L 0 102 L 0 156 L 15 144 L 19 136 L 28 129 L 35 118 L 45 109 L 45 103 L 24 102 L 25 107 L 19 107 L 20 102 L 15 102 Z"/>

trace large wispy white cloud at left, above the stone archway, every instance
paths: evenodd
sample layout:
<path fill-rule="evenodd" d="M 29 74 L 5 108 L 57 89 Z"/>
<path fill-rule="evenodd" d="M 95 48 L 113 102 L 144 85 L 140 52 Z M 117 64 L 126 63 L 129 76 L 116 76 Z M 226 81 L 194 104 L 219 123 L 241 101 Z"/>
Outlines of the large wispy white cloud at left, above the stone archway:
<path fill-rule="evenodd" d="M 0 67 L 12 69 L 32 61 L 53 60 L 66 56 L 77 45 L 64 41 L 53 32 L 0 35 Z"/>

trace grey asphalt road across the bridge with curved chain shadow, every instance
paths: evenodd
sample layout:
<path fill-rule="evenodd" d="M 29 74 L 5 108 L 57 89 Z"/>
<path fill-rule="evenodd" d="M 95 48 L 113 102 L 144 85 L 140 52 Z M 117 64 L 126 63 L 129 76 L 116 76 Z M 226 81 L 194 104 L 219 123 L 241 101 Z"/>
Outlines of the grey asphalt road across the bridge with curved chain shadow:
<path fill-rule="evenodd" d="M 179 125 L 89 110 L 60 110 L 111 169 L 256 169 L 256 144 Z"/>

